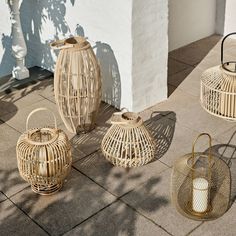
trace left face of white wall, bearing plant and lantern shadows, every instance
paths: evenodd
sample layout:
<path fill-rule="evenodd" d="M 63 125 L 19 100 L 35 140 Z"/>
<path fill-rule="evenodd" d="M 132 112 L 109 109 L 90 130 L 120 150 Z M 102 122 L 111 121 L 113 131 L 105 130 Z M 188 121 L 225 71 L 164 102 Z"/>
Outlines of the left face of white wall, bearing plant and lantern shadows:
<path fill-rule="evenodd" d="M 6 50 L 0 46 L 1 77 L 11 73 L 14 60 L 5 1 L 0 2 L 0 11 L 0 32 L 8 39 L 3 43 Z M 88 37 L 101 64 L 103 100 L 132 109 L 132 0 L 23 0 L 20 12 L 28 66 L 53 71 L 56 53 L 49 47 L 50 40 L 77 34 Z"/>

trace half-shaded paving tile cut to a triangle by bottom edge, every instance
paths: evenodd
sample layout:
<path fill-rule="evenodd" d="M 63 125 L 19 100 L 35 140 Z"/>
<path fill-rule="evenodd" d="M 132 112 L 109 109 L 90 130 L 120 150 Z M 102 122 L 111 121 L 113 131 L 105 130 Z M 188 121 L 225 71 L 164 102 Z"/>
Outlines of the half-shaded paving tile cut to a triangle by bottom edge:
<path fill-rule="evenodd" d="M 124 203 L 118 201 L 65 235 L 167 236 L 169 234 Z"/>

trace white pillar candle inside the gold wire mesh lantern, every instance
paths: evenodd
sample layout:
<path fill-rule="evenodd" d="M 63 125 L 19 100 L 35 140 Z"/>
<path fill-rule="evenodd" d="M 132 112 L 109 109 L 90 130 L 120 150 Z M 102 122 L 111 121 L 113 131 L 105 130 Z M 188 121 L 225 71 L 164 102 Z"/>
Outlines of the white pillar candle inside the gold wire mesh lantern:
<path fill-rule="evenodd" d="M 208 188 L 209 183 L 204 178 L 193 180 L 193 210 L 205 212 L 208 208 Z"/>

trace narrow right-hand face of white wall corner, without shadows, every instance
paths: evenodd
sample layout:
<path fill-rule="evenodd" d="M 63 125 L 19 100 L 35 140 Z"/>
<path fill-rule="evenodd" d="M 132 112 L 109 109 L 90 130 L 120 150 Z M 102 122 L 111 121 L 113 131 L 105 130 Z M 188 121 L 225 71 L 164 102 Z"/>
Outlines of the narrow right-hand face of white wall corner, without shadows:
<path fill-rule="evenodd" d="M 168 2 L 133 1 L 133 110 L 167 98 Z"/>

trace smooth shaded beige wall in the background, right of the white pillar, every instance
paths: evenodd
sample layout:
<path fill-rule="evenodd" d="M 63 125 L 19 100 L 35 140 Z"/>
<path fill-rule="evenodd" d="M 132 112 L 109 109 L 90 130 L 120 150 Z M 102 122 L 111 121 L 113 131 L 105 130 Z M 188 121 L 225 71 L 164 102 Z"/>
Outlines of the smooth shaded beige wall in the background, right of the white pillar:
<path fill-rule="evenodd" d="M 169 0 L 169 51 L 214 34 L 215 22 L 216 0 Z"/>

